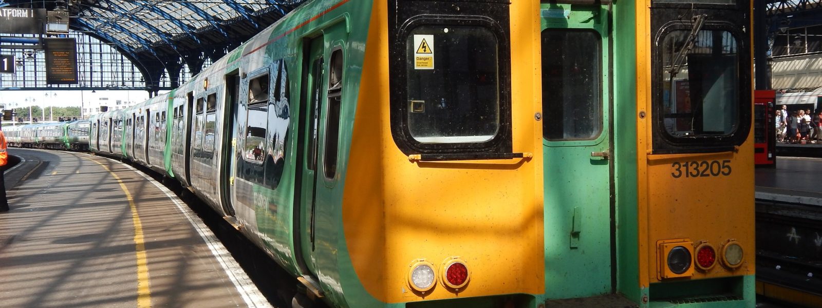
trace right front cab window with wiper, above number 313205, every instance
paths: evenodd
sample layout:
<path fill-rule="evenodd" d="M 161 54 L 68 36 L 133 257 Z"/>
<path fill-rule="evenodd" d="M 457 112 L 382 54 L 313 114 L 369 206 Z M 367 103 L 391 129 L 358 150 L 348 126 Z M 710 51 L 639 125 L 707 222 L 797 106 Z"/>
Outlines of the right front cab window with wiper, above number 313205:
<path fill-rule="evenodd" d="M 668 32 L 658 65 L 664 131 L 674 139 L 730 136 L 740 124 L 740 49 L 725 30 Z M 748 106 L 746 106 L 748 107 Z"/>

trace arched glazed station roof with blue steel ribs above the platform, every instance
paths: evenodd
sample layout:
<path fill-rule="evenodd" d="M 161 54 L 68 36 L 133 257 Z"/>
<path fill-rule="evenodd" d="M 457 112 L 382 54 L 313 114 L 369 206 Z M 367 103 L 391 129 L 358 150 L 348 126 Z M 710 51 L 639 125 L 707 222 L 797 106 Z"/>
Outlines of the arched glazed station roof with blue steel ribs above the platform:
<path fill-rule="evenodd" d="M 69 29 L 113 44 L 144 73 L 187 63 L 196 73 L 306 0 L 6 0 L 7 7 L 67 10 Z M 155 62 L 155 63 L 151 63 Z M 142 70 L 142 69 L 141 69 Z"/>

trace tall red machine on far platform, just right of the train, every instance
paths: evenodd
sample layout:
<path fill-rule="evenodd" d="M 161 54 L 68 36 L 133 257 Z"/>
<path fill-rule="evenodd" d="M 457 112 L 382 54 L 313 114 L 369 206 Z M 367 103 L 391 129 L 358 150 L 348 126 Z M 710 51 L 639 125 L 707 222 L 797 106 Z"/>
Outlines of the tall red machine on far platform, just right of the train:
<path fill-rule="evenodd" d="M 774 166 L 776 163 L 776 91 L 754 91 L 754 163 Z"/>

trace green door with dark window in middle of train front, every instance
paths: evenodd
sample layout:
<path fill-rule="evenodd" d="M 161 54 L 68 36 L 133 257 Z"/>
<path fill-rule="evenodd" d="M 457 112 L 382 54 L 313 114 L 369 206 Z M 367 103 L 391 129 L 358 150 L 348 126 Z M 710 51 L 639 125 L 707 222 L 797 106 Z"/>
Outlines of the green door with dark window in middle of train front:
<path fill-rule="evenodd" d="M 543 4 L 545 290 L 612 292 L 607 7 Z"/>

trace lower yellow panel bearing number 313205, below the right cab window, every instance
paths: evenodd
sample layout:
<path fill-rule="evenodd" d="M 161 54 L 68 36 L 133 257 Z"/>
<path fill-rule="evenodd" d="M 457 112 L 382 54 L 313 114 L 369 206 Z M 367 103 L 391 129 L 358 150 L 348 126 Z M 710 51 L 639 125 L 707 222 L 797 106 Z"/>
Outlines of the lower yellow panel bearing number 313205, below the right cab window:
<path fill-rule="evenodd" d="M 754 273 L 754 172 L 753 142 L 748 140 L 736 153 L 722 154 L 677 154 L 649 155 L 648 162 L 648 241 L 688 237 L 693 241 L 708 241 L 720 247 L 729 239 L 737 239 L 745 250 L 745 260 L 736 270 L 721 265 L 714 266 L 707 273 L 695 271 L 693 278 L 724 277 Z M 686 162 L 727 161 L 730 174 L 719 176 L 710 174 L 704 168 L 688 168 L 697 177 L 679 174 L 677 165 Z M 685 172 L 685 168 L 679 168 Z M 716 172 L 714 172 L 715 174 Z M 744 206 L 747 205 L 747 206 Z M 659 260 L 656 249 L 649 249 L 649 278 L 658 281 L 656 269 Z M 721 257 L 721 256 L 719 256 Z"/>

